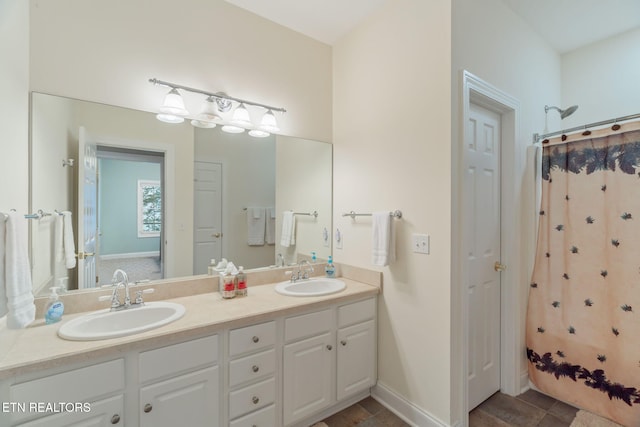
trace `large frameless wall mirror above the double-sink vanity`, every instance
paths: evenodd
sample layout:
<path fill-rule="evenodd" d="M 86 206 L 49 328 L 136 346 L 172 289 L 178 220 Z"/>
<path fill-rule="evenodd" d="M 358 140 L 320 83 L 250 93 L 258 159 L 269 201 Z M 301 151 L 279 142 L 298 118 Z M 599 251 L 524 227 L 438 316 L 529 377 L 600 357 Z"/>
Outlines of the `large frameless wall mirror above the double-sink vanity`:
<path fill-rule="evenodd" d="M 44 214 L 30 221 L 36 295 L 54 284 L 108 284 L 116 268 L 130 280 L 158 280 L 204 274 L 211 258 L 252 269 L 274 265 L 277 254 L 285 263 L 331 254 L 331 144 L 167 124 L 149 112 L 35 92 L 30 139 L 30 209 Z M 93 192 L 85 165 L 97 172 Z M 297 213 L 288 247 L 286 210 Z M 264 243 L 255 239 L 256 212 L 264 212 Z M 69 229 L 73 248 L 64 244 Z"/>

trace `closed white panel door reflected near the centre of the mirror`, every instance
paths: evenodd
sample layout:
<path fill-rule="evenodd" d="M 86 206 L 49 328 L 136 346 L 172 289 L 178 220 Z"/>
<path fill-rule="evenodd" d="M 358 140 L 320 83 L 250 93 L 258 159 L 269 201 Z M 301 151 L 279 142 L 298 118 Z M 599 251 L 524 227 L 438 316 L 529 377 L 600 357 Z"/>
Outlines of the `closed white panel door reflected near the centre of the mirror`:
<path fill-rule="evenodd" d="M 222 258 L 222 165 L 194 165 L 193 274 L 205 274 L 211 259 Z"/>

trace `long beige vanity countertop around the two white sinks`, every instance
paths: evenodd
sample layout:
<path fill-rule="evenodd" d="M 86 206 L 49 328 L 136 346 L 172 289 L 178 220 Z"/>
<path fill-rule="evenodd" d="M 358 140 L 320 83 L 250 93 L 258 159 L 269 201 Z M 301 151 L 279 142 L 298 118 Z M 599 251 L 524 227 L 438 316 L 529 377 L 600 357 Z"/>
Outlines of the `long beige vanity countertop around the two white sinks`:
<path fill-rule="evenodd" d="M 117 356 L 129 350 L 161 347 L 279 316 L 321 309 L 379 293 L 377 286 L 340 278 L 347 288 L 319 297 L 289 297 L 275 292 L 275 284 L 249 287 L 249 296 L 224 300 L 218 292 L 167 299 L 184 305 L 185 315 L 168 325 L 147 332 L 99 341 L 67 341 L 58 328 L 84 313 L 69 314 L 53 325 L 44 319 L 26 329 L 0 329 L 0 379 L 69 363 Z"/>

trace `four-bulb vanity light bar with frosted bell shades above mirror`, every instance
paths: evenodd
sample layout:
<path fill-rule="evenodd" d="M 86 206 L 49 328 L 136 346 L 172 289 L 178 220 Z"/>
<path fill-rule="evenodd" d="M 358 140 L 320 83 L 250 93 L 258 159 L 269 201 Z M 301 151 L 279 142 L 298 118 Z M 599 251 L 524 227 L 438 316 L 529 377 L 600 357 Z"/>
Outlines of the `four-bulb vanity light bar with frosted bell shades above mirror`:
<path fill-rule="evenodd" d="M 285 113 L 284 108 L 273 107 L 258 102 L 247 101 L 244 99 L 234 98 L 224 92 L 207 92 L 200 89 L 194 89 L 187 86 L 169 83 L 158 79 L 149 79 L 150 83 L 159 86 L 166 86 L 171 90 L 165 96 L 160 112 L 156 115 L 158 120 L 166 123 L 182 123 L 184 118 L 189 116 L 189 111 L 185 107 L 182 95 L 178 91 L 205 95 L 206 99 L 203 103 L 201 112 L 195 117 L 192 116 L 191 124 L 200 128 L 214 128 L 220 124 L 222 130 L 229 133 L 242 133 L 249 130 L 249 135 L 256 138 L 264 138 L 271 133 L 280 131 L 278 127 L 274 111 Z M 219 113 L 227 113 L 231 111 L 234 103 L 237 103 L 230 120 L 225 120 Z M 266 110 L 262 115 L 259 125 L 254 125 L 247 106 L 258 107 Z"/>

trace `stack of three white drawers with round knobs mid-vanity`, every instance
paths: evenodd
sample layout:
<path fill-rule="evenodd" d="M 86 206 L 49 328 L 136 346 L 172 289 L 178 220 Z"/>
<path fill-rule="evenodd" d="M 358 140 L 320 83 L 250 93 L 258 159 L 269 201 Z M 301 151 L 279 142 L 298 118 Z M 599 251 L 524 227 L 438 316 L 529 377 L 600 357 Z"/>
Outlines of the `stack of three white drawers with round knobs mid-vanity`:
<path fill-rule="evenodd" d="M 275 425 L 276 340 L 275 321 L 229 331 L 230 425 Z"/>

